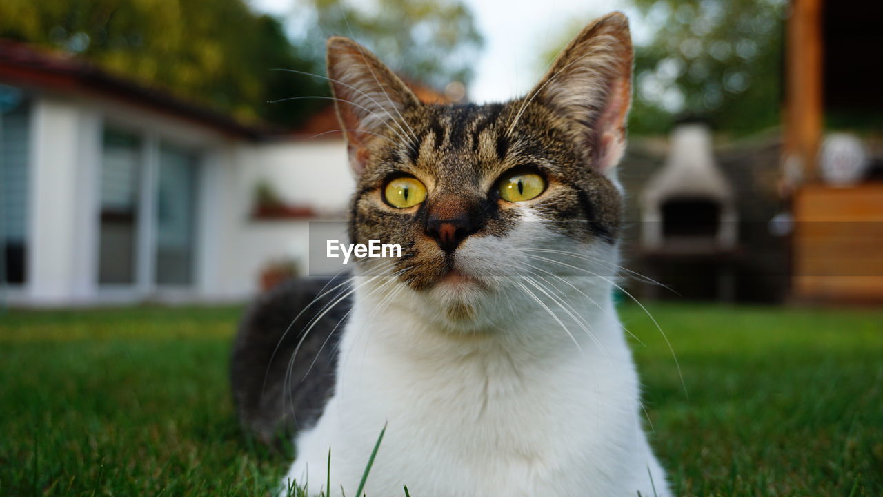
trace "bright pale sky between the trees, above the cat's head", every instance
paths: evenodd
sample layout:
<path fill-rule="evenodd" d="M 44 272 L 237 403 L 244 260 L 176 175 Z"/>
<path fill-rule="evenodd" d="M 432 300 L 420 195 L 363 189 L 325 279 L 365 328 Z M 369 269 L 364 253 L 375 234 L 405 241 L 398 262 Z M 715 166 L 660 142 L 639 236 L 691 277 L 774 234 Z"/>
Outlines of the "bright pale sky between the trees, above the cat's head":
<path fill-rule="evenodd" d="M 250 0 L 258 11 L 284 16 L 295 10 L 298 0 Z M 358 0 L 351 0 L 355 3 Z M 468 88 L 476 103 L 497 102 L 522 96 L 540 80 L 545 65 L 541 56 L 555 42 L 576 33 L 562 33 L 577 22 L 609 11 L 632 14 L 622 0 L 464 0 L 475 16 L 484 48 Z M 630 15 L 636 42 L 649 36 L 640 19 Z M 576 29 L 576 28 L 575 28 Z M 378 54 L 381 59 L 382 54 Z"/>

